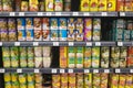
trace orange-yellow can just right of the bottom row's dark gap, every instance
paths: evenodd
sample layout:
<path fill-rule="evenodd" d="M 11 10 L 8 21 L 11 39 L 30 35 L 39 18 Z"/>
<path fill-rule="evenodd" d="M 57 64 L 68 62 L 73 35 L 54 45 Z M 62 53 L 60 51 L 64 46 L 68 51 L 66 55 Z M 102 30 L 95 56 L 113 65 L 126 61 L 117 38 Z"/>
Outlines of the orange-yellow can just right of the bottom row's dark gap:
<path fill-rule="evenodd" d="M 60 75 L 52 75 L 52 88 L 60 88 L 61 86 L 60 80 L 61 80 Z"/>

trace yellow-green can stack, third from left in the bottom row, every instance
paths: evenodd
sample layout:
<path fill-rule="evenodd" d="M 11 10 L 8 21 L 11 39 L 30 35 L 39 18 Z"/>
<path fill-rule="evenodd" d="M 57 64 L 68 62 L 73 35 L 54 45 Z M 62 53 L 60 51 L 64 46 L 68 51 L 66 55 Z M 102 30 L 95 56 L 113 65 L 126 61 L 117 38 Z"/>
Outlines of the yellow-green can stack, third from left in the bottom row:
<path fill-rule="evenodd" d="M 27 74 L 19 74 L 20 88 L 27 88 Z"/>

